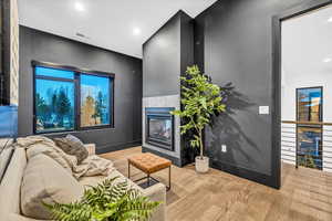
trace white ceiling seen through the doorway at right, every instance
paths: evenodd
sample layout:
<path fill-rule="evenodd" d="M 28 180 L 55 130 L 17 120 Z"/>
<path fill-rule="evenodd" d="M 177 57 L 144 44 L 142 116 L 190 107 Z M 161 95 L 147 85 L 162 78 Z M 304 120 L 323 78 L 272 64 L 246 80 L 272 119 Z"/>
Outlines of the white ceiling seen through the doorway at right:
<path fill-rule="evenodd" d="M 281 33 L 284 74 L 332 74 L 332 4 L 282 22 Z"/>

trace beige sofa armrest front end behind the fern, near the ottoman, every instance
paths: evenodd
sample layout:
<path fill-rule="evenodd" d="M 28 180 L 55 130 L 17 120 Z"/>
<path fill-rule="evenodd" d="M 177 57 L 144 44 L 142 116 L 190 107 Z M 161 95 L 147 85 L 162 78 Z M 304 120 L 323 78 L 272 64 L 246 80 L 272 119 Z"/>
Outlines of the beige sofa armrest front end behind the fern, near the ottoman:
<path fill-rule="evenodd" d="M 143 190 L 143 194 L 152 201 L 159 201 L 158 208 L 155 209 L 151 221 L 166 221 L 166 187 L 163 183 L 156 183 Z"/>

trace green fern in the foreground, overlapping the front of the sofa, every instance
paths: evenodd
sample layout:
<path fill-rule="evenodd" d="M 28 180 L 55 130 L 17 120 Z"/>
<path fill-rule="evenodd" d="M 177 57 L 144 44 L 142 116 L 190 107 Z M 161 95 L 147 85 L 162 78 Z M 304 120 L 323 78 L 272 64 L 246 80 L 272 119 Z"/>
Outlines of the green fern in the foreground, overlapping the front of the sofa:
<path fill-rule="evenodd" d="M 90 187 L 83 198 L 73 203 L 44 206 L 52 219 L 60 221 L 145 221 L 160 202 L 149 201 L 127 182 L 115 182 L 118 177 Z"/>

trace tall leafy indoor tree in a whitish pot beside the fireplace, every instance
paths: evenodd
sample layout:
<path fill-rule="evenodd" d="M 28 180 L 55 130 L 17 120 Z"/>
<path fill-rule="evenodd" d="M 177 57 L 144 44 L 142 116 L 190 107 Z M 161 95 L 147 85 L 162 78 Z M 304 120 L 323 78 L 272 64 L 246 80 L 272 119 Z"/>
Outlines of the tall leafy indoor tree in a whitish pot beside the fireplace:
<path fill-rule="evenodd" d="M 212 116 L 225 112 L 221 88 L 212 84 L 210 77 L 201 74 L 197 65 L 187 67 L 180 81 L 181 109 L 174 110 L 172 114 L 183 119 L 181 135 L 189 130 L 194 134 L 190 146 L 200 150 L 200 155 L 195 158 L 196 171 L 207 172 L 209 158 L 204 156 L 203 133 L 205 126 L 211 123 Z"/>

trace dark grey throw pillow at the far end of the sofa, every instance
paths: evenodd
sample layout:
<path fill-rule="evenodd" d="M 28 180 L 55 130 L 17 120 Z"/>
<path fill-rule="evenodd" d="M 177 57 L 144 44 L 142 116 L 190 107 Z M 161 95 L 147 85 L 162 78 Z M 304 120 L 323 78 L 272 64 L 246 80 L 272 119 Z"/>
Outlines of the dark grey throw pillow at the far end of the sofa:
<path fill-rule="evenodd" d="M 79 164 L 89 156 L 89 151 L 84 144 L 72 135 L 68 135 L 65 138 L 54 138 L 54 141 L 65 154 L 74 155 L 77 158 Z"/>

